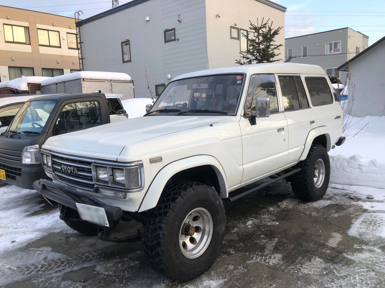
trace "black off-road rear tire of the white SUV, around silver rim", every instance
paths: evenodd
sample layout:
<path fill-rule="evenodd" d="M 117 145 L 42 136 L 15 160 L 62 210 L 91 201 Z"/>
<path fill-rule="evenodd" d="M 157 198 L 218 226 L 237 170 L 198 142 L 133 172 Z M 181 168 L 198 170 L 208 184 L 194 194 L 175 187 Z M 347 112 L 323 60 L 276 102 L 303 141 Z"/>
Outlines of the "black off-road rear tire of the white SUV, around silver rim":
<path fill-rule="evenodd" d="M 323 161 L 325 171 L 322 185 L 316 187 L 315 166 L 319 160 Z M 304 201 L 320 200 L 328 189 L 330 179 L 330 160 L 325 147 L 319 144 L 312 146 L 308 156 L 298 163 L 298 167 L 301 171 L 290 177 L 294 195 Z"/>

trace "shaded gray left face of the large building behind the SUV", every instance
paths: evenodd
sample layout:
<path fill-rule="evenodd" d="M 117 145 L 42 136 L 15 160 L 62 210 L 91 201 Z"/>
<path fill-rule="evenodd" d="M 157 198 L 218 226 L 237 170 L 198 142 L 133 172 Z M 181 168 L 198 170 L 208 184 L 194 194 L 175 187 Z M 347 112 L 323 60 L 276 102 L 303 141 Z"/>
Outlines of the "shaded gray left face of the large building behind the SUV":
<path fill-rule="evenodd" d="M 180 74 L 207 69 L 205 4 L 205 0 L 146 1 L 82 25 L 84 70 L 127 73 L 135 80 L 136 97 L 151 97 L 146 66 L 155 97 L 155 85 L 161 81 L 167 84 Z M 176 29 L 179 41 L 164 43 L 166 26 Z M 121 42 L 127 38 L 131 62 L 122 63 Z"/>

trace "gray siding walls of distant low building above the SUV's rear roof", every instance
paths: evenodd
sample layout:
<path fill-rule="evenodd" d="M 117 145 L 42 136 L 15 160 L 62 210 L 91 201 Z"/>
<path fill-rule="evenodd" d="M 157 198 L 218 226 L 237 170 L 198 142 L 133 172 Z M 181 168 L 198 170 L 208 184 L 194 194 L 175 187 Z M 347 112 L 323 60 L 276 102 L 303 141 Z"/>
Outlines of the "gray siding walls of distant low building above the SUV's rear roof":
<path fill-rule="evenodd" d="M 341 41 L 341 53 L 326 55 L 326 43 L 334 41 Z M 308 56 L 306 58 L 302 57 L 303 46 L 308 46 Z M 285 59 L 288 58 L 288 49 L 293 48 L 295 58 L 290 61 L 292 63 L 319 65 L 324 70 L 326 68 L 337 68 L 355 56 L 356 46 L 362 47 L 362 51 L 364 46 L 368 46 L 368 38 L 348 28 L 288 38 L 285 40 Z M 340 80 L 345 83 L 345 72 L 340 72 Z"/>

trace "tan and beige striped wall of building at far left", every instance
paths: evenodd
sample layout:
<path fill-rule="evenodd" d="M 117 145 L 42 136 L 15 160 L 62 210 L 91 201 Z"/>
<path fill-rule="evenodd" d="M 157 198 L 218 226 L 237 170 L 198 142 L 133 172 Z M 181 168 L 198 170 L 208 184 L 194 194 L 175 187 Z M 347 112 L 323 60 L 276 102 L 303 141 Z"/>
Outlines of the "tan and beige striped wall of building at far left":
<path fill-rule="evenodd" d="M 6 43 L 4 24 L 28 27 L 30 45 Z M 39 46 L 37 29 L 59 31 L 60 48 Z M 8 81 L 8 66 L 32 67 L 35 76 L 42 76 L 42 68 L 79 70 L 79 54 L 69 49 L 67 33 L 76 34 L 75 19 L 35 12 L 25 9 L 0 6 L 0 80 Z"/>

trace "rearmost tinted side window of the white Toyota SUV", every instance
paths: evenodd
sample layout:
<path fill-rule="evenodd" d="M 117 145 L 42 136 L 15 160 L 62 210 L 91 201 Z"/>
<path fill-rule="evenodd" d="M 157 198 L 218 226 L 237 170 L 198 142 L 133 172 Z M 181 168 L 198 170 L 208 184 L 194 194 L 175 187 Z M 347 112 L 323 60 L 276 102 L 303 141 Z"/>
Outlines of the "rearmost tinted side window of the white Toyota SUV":
<path fill-rule="evenodd" d="M 306 77 L 305 82 L 313 106 L 333 103 L 333 94 L 331 94 L 328 82 L 325 78 Z"/>

